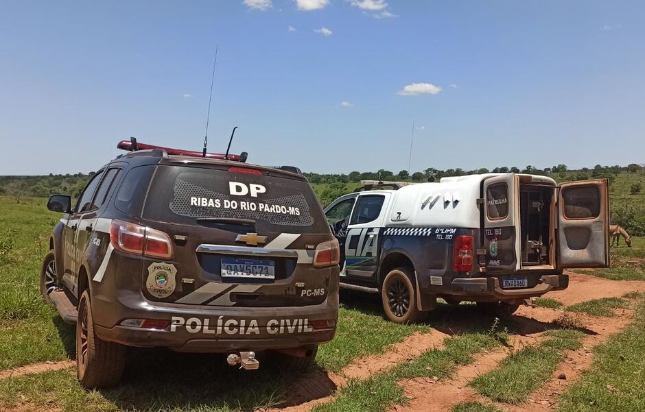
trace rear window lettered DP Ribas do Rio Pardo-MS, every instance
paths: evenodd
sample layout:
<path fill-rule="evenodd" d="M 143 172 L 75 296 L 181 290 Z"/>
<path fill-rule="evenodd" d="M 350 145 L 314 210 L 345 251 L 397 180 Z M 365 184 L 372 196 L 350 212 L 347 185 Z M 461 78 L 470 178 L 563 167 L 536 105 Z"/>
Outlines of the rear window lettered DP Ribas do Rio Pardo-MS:
<path fill-rule="evenodd" d="M 199 167 L 160 166 L 143 217 L 187 224 L 209 217 L 253 219 L 257 230 L 271 232 L 329 230 L 306 181 Z"/>

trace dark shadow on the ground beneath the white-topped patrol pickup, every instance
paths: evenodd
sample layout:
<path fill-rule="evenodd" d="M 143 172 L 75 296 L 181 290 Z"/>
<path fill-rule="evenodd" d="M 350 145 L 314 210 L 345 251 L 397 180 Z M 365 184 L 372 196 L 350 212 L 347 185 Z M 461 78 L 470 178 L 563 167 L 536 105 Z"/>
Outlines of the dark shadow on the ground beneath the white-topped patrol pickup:
<path fill-rule="evenodd" d="M 340 304 L 368 315 L 376 315 L 386 319 L 379 295 L 370 295 L 356 291 L 340 291 Z M 586 335 L 596 335 L 596 332 L 585 327 L 563 325 L 556 320 L 542 322 L 533 317 L 511 315 L 498 318 L 485 313 L 476 304 L 460 304 L 451 306 L 438 303 L 434 311 L 428 313 L 423 324 L 430 326 L 447 335 L 465 333 L 489 333 L 506 330 L 511 335 L 533 335 L 546 330 L 573 328 Z"/>

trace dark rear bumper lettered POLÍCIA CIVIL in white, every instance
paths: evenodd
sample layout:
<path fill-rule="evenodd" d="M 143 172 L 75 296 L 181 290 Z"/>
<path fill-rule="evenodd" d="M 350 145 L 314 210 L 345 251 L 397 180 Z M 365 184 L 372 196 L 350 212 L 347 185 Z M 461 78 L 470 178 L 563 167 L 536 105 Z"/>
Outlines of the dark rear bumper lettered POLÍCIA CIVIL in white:
<path fill-rule="evenodd" d="M 315 306 L 222 308 L 155 304 L 141 294 L 121 295 L 117 302 L 93 298 L 97 335 L 105 341 L 179 352 L 235 352 L 288 349 L 331 341 L 336 332 L 338 295 Z M 127 319 L 169 322 L 159 329 L 124 326 Z M 326 328 L 316 321 L 329 321 Z M 107 326 L 109 325 L 109 326 Z"/>

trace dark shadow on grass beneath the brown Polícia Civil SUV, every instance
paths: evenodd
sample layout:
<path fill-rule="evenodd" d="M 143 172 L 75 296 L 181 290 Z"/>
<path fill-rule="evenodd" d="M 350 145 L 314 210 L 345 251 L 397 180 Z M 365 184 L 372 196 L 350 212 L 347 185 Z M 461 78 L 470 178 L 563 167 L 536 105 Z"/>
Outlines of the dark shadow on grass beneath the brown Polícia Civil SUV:
<path fill-rule="evenodd" d="M 228 366 L 222 354 L 132 348 L 121 385 L 102 389 L 101 393 L 119 409 L 148 412 L 207 408 L 255 411 L 301 404 L 336 391 L 336 385 L 318 367 L 302 374 L 285 374 L 261 354 L 258 359 L 259 370 L 244 371 Z"/>

